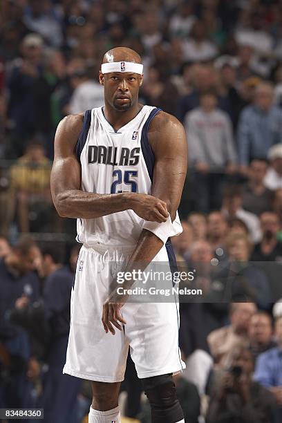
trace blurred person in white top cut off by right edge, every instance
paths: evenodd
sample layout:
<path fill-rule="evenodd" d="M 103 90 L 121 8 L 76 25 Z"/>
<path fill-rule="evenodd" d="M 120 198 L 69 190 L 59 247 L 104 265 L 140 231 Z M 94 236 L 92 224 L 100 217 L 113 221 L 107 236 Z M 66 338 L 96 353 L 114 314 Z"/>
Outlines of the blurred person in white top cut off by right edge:
<path fill-rule="evenodd" d="M 270 167 L 266 173 L 265 187 L 275 190 L 282 188 L 282 144 L 276 144 L 268 151 Z"/>

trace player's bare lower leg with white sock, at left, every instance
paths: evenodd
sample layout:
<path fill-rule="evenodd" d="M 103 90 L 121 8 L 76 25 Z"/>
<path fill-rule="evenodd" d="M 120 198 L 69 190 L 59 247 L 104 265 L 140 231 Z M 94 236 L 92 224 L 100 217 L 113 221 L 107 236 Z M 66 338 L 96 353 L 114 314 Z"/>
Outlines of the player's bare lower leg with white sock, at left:
<path fill-rule="evenodd" d="M 89 423 L 120 423 L 118 395 L 120 382 L 91 382 L 93 400 L 90 407 Z"/>

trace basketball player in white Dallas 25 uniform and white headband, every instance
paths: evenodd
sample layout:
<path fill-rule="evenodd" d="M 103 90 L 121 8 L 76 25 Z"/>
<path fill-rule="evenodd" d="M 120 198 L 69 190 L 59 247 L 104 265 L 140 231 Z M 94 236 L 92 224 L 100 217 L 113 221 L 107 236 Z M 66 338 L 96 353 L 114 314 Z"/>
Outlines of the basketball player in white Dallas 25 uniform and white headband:
<path fill-rule="evenodd" d="M 153 423 L 184 422 L 173 373 L 182 370 L 176 303 L 109 297 L 111 261 L 168 262 L 180 234 L 177 208 L 187 171 L 185 131 L 171 115 L 138 103 L 140 56 L 104 55 L 105 106 L 70 115 L 55 135 L 51 176 L 60 216 L 77 218 L 79 252 L 63 373 L 91 380 L 90 423 L 120 422 L 118 394 L 130 348 Z"/>

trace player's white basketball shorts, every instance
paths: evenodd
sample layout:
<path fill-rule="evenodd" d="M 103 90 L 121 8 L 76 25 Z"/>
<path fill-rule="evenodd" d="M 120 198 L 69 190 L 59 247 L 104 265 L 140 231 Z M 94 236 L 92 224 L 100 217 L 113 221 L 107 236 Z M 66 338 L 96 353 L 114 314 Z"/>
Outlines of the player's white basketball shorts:
<path fill-rule="evenodd" d="M 129 303 L 121 309 L 126 324 L 106 333 L 102 306 L 109 296 L 109 263 L 126 262 L 134 247 L 109 249 L 83 245 L 71 293 L 71 328 L 63 373 L 97 382 L 121 382 L 130 349 L 138 377 L 179 373 L 185 364 L 178 348 L 177 301 Z M 168 262 L 166 247 L 153 261 Z"/>

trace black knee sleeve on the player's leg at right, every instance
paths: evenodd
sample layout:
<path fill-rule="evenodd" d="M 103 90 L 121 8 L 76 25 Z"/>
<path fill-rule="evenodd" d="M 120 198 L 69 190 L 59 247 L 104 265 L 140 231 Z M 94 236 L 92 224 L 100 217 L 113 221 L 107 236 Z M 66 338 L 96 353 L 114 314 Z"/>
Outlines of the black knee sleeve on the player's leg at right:
<path fill-rule="evenodd" d="M 184 418 L 171 374 L 147 377 L 142 384 L 151 405 L 152 423 L 176 423 Z"/>

